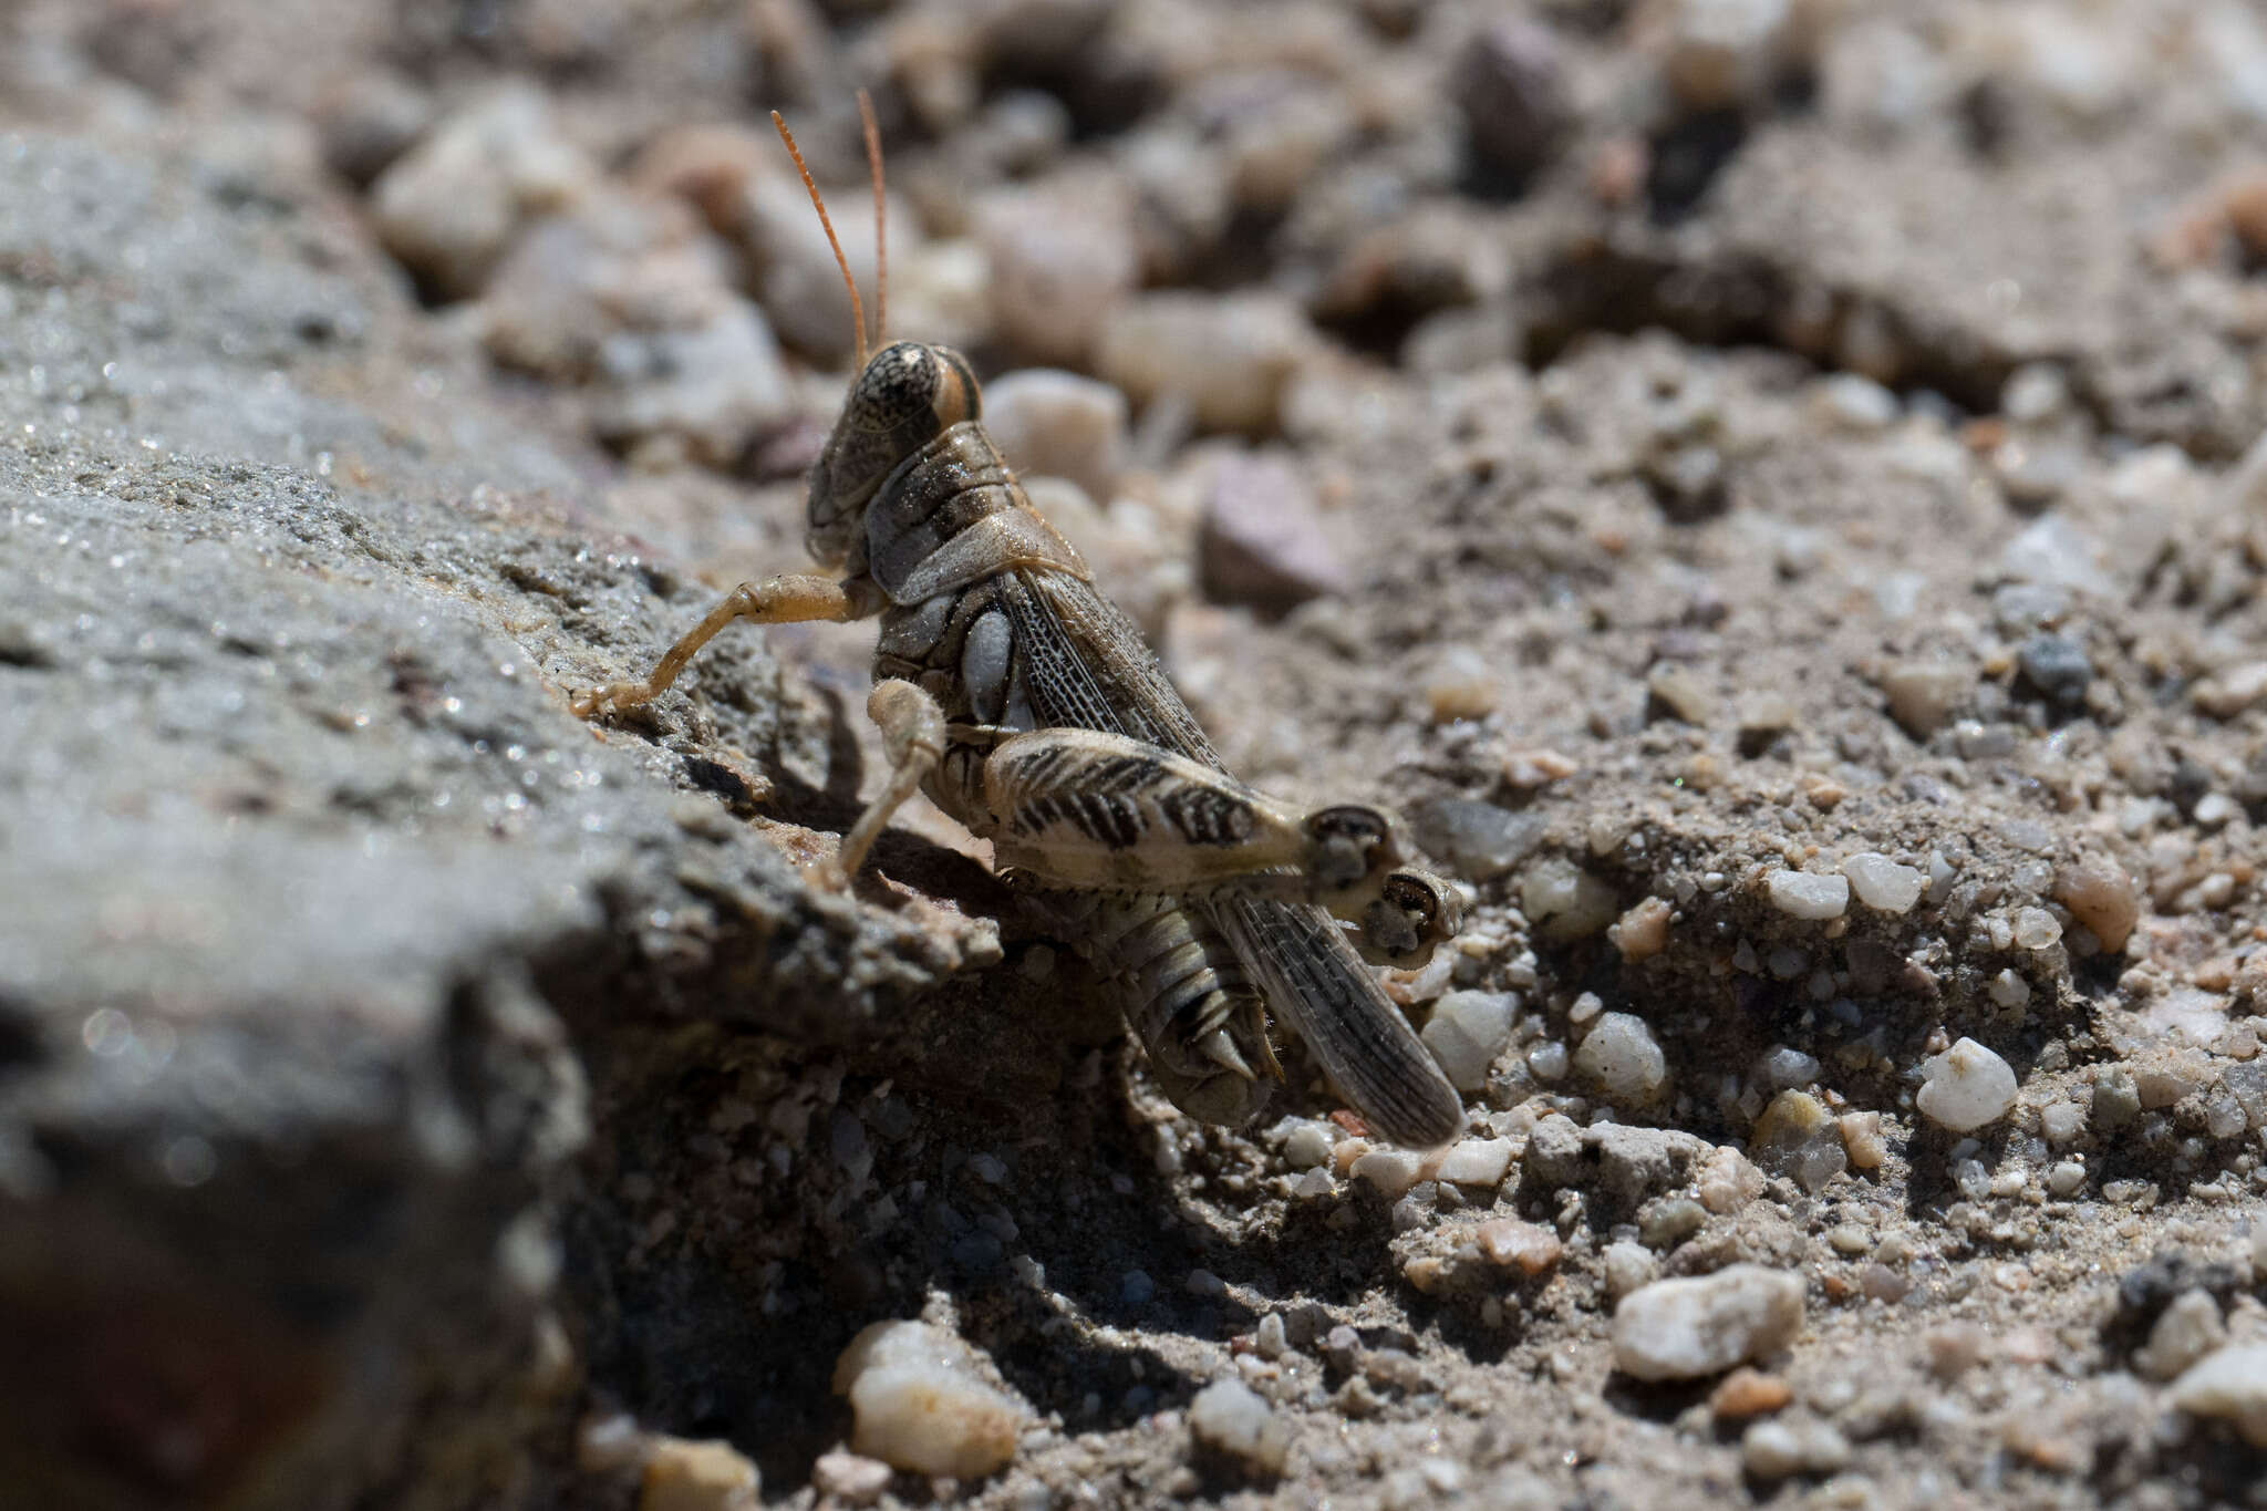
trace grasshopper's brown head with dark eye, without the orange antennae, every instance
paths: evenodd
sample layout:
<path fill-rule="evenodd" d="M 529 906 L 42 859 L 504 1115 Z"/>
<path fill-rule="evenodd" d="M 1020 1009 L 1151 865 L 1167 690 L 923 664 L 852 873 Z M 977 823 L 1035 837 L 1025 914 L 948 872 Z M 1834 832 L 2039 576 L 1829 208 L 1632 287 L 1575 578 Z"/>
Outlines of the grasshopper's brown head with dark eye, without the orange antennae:
<path fill-rule="evenodd" d="M 893 342 L 873 353 L 812 464 L 812 557 L 841 566 L 866 532 L 866 505 L 882 480 L 948 428 L 975 419 L 979 406 L 977 378 L 950 347 Z"/>

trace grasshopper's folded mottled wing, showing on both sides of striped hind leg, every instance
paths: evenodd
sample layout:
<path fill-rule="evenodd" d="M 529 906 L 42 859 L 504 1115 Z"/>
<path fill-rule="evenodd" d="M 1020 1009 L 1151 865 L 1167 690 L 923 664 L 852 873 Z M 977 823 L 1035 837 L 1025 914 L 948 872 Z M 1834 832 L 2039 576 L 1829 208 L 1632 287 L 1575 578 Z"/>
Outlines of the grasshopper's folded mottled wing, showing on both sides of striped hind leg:
<path fill-rule="evenodd" d="M 1016 573 L 1011 584 L 1002 582 L 1002 600 L 1016 621 L 1025 686 L 1041 723 L 1131 734 L 1226 770 L 1118 605 L 1065 573 Z M 1412 1149 L 1455 1137 L 1462 1099 L 1338 920 L 1315 904 L 1267 897 L 1188 906 L 1229 936 L 1270 1006 L 1378 1135 Z"/>

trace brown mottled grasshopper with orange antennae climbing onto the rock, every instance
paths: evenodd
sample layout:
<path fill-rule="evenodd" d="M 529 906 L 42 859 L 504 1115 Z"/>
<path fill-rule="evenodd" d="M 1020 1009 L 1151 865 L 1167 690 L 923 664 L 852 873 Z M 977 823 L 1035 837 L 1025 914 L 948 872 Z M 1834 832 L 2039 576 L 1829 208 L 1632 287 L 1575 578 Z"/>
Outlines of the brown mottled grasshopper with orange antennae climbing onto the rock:
<path fill-rule="evenodd" d="M 877 618 L 868 716 L 884 791 L 843 836 L 846 886 L 889 816 L 925 791 L 993 840 L 1002 874 L 1095 963 L 1165 1094 L 1190 1117 L 1249 1119 L 1281 1078 L 1267 1008 L 1374 1133 L 1435 1146 L 1462 1101 L 1365 965 L 1415 965 L 1455 933 L 1449 883 L 1406 863 L 1358 804 L 1299 811 L 1238 782 L 1079 553 L 1031 507 L 982 424 L 968 362 L 882 344 L 889 261 L 882 154 L 864 91 L 877 222 L 875 351 L 857 281 L 796 159 L 857 324 L 857 378 L 809 473 L 805 544 L 839 575 L 744 582 L 642 682 L 576 698 L 632 709 L 725 625 Z M 1362 949 L 1342 929 L 1360 929 Z"/>

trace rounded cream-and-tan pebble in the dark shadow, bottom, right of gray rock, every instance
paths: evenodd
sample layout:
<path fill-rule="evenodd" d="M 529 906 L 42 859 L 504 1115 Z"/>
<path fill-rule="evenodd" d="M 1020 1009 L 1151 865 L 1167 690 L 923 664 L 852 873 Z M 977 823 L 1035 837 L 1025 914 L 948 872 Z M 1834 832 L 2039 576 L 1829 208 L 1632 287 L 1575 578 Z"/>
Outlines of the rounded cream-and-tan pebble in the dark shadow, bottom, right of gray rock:
<path fill-rule="evenodd" d="M 850 1339 L 834 1393 L 850 1398 L 850 1448 L 916 1475 L 991 1475 L 1016 1457 L 1029 1420 L 977 1377 L 968 1343 L 916 1321 L 873 1323 Z"/>

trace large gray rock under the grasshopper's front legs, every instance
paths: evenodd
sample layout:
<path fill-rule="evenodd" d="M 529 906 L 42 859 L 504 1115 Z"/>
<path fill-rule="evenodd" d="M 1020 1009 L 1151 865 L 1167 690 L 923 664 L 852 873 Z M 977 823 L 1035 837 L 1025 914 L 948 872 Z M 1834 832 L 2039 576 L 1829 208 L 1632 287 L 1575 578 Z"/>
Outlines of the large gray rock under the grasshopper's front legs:
<path fill-rule="evenodd" d="M 707 589 L 363 347 L 406 306 L 320 188 L 34 136 L 0 204 L 0 1484 L 485 1500 L 578 1380 L 571 1035 L 875 1040 L 995 936 L 812 893 L 716 795 L 753 761 L 567 714 Z M 723 743 L 825 763 L 812 707 Z"/>

